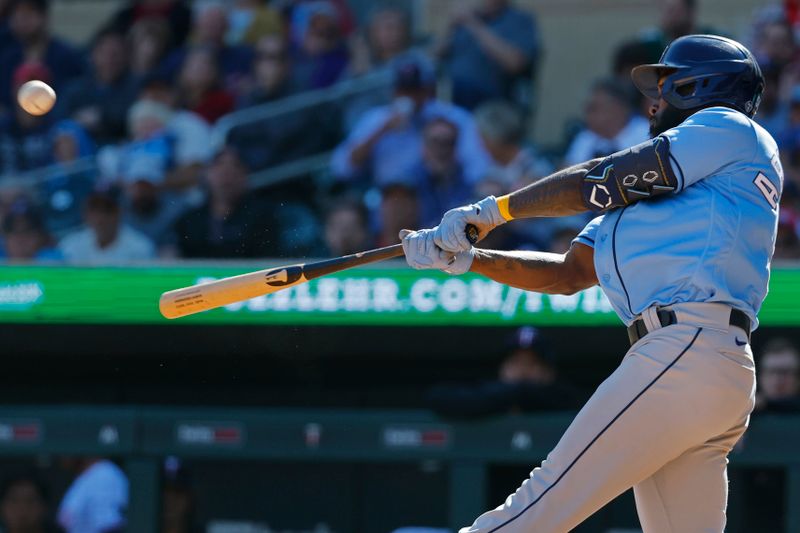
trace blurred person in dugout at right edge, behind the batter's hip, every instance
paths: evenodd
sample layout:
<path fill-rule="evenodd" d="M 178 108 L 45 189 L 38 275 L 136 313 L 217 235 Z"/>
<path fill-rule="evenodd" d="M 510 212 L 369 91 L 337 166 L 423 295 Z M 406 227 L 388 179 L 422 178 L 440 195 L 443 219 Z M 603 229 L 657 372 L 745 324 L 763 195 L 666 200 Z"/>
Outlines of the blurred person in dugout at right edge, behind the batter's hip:
<path fill-rule="evenodd" d="M 800 351 L 788 339 L 772 339 L 758 361 L 756 410 L 800 413 Z"/>

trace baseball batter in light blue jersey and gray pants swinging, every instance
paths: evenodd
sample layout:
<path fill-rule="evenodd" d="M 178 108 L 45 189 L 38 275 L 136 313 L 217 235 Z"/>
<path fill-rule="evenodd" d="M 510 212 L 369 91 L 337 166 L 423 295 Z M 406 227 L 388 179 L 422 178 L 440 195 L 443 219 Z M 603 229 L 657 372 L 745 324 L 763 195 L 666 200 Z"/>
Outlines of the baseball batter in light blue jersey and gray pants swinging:
<path fill-rule="evenodd" d="M 630 487 L 646 533 L 721 532 L 727 456 L 754 404 L 749 346 L 767 293 L 783 171 L 752 118 L 764 81 L 741 44 L 674 41 L 632 71 L 652 139 L 403 234 L 408 263 L 526 290 L 599 283 L 631 348 L 530 478 L 466 532 L 568 531 Z M 518 218 L 599 214 L 564 255 L 473 248 Z"/>

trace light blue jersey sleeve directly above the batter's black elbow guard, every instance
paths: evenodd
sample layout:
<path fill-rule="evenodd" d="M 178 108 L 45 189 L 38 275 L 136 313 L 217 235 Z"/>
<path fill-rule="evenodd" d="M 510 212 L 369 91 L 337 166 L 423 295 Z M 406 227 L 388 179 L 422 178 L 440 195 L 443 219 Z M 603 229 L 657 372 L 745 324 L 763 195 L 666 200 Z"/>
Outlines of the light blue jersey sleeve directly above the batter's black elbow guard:
<path fill-rule="evenodd" d="M 670 142 L 678 191 L 723 172 L 732 163 L 751 160 L 758 147 L 750 119 L 724 107 L 698 111 L 662 135 Z"/>

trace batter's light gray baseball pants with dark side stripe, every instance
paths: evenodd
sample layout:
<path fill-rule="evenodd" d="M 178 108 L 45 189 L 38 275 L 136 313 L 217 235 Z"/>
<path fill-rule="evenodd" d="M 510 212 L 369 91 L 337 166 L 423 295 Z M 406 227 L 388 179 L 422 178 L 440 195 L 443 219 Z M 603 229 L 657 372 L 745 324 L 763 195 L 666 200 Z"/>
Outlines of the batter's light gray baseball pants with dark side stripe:
<path fill-rule="evenodd" d="M 460 533 L 561 533 L 633 487 L 644 533 L 721 533 L 728 453 L 747 428 L 755 366 L 730 308 L 676 304 L 592 395 L 503 505 Z M 744 345 L 742 345 L 744 344 Z"/>

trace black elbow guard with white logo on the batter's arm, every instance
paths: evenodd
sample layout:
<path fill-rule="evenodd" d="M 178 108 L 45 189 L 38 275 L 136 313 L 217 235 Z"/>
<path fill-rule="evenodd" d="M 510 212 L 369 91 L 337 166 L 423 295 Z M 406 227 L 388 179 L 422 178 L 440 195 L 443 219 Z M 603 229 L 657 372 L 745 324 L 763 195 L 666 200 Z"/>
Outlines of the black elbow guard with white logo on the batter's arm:
<path fill-rule="evenodd" d="M 676 190 L 669 139 L 659 136 L 592 167 L 583 178 L 583 203 L 591 211 L 608 211 Z"/>

